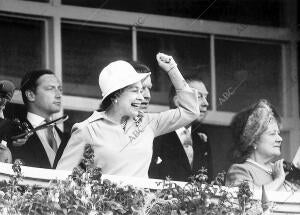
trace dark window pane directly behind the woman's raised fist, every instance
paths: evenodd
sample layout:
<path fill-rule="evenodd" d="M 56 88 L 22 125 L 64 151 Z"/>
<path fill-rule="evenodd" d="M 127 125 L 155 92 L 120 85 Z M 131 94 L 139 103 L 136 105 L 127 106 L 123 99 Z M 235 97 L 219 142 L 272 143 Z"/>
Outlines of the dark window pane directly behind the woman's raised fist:
<path fill-rule="evenodd" d="M 172 55 L 184 76 L 203 79 L 210 92 L 209 39 L 206 37 L 176 36 L 138 32 L 138 58 L 152 71 L 152 103 L 168 105 L 169 77 L 159 69 L 156 54 Z"/>

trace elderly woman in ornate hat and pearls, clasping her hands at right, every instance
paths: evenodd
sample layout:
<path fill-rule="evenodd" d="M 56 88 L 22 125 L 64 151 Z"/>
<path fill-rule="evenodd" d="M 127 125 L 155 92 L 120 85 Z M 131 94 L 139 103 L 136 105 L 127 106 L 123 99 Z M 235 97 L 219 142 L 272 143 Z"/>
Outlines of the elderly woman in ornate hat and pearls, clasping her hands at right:
<path fill-rule="evenodd" d="M 234 164 L 226 176 L 226 186 L 243 181 L 252 188 L 288 191 L 294 188 L 285 180 L 281 155 L 282 138 L 279 131 L 280 117 L 266 101 L 260 100 L 250 108 L 238 113 L 232 123 Z"/>

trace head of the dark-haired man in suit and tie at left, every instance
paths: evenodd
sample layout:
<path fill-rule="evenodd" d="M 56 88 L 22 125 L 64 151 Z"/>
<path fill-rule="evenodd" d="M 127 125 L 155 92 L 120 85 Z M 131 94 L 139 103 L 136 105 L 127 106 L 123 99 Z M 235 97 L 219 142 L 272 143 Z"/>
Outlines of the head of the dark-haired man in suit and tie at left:
<path fill-rule="evenodd" d="M 51 70 L 34 70 L 25 74 L 21 92 L 28 111 L 49 118 L 61 110 L 62 86 Z"/>

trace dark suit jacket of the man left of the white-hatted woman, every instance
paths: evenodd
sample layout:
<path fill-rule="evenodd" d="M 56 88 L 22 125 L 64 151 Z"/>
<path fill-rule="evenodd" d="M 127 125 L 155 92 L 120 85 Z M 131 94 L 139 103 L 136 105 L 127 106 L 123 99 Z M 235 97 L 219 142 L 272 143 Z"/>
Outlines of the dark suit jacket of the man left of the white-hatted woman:
<path fill-rule="evenodd" d="M 32 125 L 29 123 L 29 121 L 25 121 L 29 125 L 29 127 L 32 128 Z M 68 142 L 68 137 L 64 135 L 57 126 L 55 126 L 55 129 L 61 139 L 61 143 L 57 150 L 53 167 L 51 167 L 46 150 L 44 149 L 44 146 L 36 133 L 31 135 L 23 146 L 10 147 L 13 160 L 21 159 L 26 166 L 55 169 Z"/>

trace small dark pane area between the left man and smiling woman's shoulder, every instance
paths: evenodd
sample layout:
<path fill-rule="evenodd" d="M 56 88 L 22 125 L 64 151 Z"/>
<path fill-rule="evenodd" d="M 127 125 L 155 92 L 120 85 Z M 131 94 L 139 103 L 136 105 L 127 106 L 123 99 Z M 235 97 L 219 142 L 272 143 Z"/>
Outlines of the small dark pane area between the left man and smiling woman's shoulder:
<path fill-rule="evenodd" d="M 76 110 L 64 110 L 64 114 L 69 116 L 69 119 L 64 122 L 64 132 L 70 133 L 72 126 L 75 123 L 82 122 L 86 120 L 92 112 L 85 112 L 85 111 L 76 111 Z"/>

